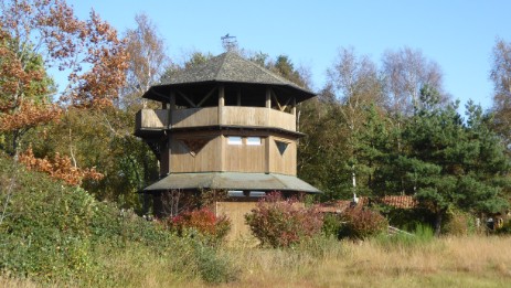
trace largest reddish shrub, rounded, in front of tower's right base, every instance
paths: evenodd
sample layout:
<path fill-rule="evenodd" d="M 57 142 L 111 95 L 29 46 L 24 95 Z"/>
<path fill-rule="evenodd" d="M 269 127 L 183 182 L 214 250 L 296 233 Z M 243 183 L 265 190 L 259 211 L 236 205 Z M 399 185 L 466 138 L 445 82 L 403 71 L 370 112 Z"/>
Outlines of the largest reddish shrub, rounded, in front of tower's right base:
<path fill-rule="evenodd" d="M 316 207 L 304 207 L 296 199 L 285 200 L 280 193 L 262 199 L 245 215 L 252 233 L 263 246 L 287 247 L 321 232 L 322 215 Z"/>

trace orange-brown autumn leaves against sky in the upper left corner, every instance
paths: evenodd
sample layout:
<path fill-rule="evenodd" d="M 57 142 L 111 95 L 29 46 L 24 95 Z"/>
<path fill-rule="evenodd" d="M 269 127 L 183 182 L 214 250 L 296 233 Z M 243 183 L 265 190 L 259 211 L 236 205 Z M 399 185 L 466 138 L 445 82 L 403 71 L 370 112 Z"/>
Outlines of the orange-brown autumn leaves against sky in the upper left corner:
<path fill-rule="evenodd" d="M 91 11 L 88 20 L 79 20 L 64 0 L 2 2 L 0 40 L 9 41 L 0 54 L 9 53 L 10 61 L 0 76 L 1 86 L 11 87 L 10 95 L 19 97 L 20 83 L 23 86 L 44 76 L 43 70 L 26 70 L 23 53 L 31 53 L 42 56 L 44 68 L 53 66 L 67 74 L 60 97 L 64 104 L 88 108 L 109 105 L 117 98 L 125 83 L 128 55 L 117 31 L 97 13 Z"/>

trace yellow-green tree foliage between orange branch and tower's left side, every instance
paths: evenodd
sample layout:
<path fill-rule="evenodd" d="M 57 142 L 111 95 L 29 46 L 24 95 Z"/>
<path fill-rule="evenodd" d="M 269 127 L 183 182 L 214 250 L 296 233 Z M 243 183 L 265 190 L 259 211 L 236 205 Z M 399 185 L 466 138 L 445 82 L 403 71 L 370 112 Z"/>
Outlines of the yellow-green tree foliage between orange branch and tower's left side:
<path fill-rule="evenodd" d="M 149 147 L 131 135 L 132 125 L 134 115 L 116 108 L 68 109 L 58 124 L 34 130 L 25 139 L 39 158 L 71 151 L 78 167 L 95 167 L 105 178 L 85 181 L 83 188 L 97 200 L 141 214 L 142 201 L 136 192 L 158 178 L 158 167 Z"/>

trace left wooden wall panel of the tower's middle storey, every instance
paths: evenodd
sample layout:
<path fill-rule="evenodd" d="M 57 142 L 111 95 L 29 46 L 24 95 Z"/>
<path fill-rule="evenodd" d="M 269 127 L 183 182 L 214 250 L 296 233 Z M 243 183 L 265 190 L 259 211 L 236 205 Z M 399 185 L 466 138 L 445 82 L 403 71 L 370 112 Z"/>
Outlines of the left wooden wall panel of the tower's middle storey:
<path fill-rule="evenodd" d="M 182 136 L 181 136 L 182 137 Z M 196 137 L 196 136 L 195 136 Z M 188 137 L 191 139 L 191 137 Z M 172 136 L 170 140 L 171 172 L 210 172 L 221 171 L 221 137 L 212 138 L 195 156 L 190 153 L 188 147 L 179 140 L 180 136 Z"/>

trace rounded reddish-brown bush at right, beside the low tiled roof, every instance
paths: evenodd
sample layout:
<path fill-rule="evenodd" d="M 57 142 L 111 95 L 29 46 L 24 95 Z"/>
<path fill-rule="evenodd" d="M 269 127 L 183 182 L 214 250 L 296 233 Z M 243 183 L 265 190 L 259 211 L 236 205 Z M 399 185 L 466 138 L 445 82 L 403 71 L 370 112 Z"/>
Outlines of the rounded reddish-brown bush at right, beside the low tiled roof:
<path fill-rule="evenodd" d="M 364 239 L 388 228 L 388 222 L 382 214 L 359 206 L 345 210 L 341 221 L 340 237 Z"/>

